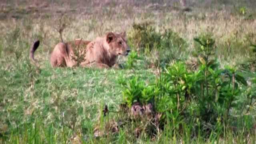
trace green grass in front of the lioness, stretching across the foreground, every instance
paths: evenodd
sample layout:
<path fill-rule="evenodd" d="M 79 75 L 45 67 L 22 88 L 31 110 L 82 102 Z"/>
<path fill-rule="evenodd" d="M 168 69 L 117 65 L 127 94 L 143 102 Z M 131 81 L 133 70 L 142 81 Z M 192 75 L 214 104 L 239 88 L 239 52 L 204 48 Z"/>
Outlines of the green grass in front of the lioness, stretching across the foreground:
<path fill-rule="evenodd" d="M 167 124 L 154 137 L 149 138 L 147 133 L 142 133 L 136 138 L 134 130 L 143 128 L 145 122 L 129 121 L 127 115 L 122 113 L 103 116 L 104 105 L 110 111 L 120 110 L 120 77 L 128 80 L 136 75 L 146 83 L 152 83 L 155 81 L 154 69 L 51 68 L 49 62 L 41 62 L 44 68 L 37 70 L 28 58 L 15 62 L 13 59 L 11 66 L 2 63 L 0 67 L 0 75 L 3 76 L 0 78 L 3 143 L 53 144 L 74 140 L 83 143 L 244 143 L 255 140 L 254 130 L 251 129 L 253 124 L 250 124 L 254 117 L 253 110 L 248 120 L 246 116 L 241 117 L 244 128 L 234 131 L 223 123 L 220 127 L 224 126 L 224 132 L 221 130 L 221 135 L 212 131 L 207 138 L 200 131 L 196 136 L 191 135 L 195 132 L 194 124 L 184 121 L 181 121 L 180 132 L 176 133 Z M 118 128 L 118 132 L 112 133 L 113 120 L 121 121 L 124 125 Z M 109 133 L 95 138 L 95 128 Z"/>

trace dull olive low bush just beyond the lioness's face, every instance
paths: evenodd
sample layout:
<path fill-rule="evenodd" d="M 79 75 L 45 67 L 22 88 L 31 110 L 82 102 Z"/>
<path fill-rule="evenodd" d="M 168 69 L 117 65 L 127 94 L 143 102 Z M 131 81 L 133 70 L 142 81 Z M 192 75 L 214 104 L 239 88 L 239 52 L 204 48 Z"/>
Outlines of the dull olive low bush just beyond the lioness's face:
<path fill-rule="evenodd" d="M 171 29 L 157 32 L 156 28 L 149 22 L 132 25 L 132 30 L 128 32 L 128 44 L 138 54 L 143 53 L 151 56 L 153 50 L 158 51 L 160 64 L 179 59 L 187 47 L 186 41 L 176 32 Z"/>

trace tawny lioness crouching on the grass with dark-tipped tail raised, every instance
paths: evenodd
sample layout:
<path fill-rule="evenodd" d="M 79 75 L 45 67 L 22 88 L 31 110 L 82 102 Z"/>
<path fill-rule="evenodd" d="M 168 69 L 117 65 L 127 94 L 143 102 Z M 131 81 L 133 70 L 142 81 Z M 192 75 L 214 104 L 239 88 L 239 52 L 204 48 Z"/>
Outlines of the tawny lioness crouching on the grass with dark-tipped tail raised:
<path fill-rule="evenodd" d="M 40 41 L 34 42 L 30 48 L 30 58 L 33 62 L 34 52 Z M 52 51 L 50 62 L 52 67 L 72 67 L 77 64 L 74 60 L 74 47 L 82 46 L 85 57 L 80 66 L 96 66 L 98 68 L 109 68 L 116 64 L 118 55 L 127 56 L 130 48 L 126 43 L 126 33 L 117 34 L 108 32 L 104 37 L 98 37 L 93 41 L 75 40 L 72 42 L 58 43 Z"/>

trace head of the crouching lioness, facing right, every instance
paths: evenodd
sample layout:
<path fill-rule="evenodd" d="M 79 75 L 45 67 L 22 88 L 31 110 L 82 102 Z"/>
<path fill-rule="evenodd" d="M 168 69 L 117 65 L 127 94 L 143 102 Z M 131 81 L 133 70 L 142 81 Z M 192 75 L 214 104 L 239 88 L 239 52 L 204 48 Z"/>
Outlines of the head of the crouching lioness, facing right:
<path fill-rule="evenodd" d="M 125 32 L 122 32 L 121 34 L 108 32 L 106 34 L 106 42 L 109 45 L 108 51 L 115 56 L 127 56 L 130 52 L 130 47 L 127 45 Z"/>

